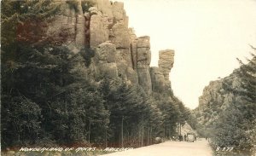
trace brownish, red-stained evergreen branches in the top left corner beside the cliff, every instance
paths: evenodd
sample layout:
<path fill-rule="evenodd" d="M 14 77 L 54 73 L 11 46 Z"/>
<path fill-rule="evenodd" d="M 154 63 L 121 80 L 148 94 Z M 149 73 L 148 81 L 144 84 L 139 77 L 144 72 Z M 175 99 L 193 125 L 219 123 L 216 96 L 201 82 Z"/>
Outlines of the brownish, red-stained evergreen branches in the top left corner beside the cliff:
<path fill-rule="evenodd" d="M 61 14 L 61 7 L 52 0 L 1 1 L 1 49 L 8 52 L 6 55 L 15 57 L 17 42 L 22 38 L 19 28 L 33 23 L 37 29 L 32 30 L 39 34 L 42 30 L 37 25 L 43 25 L 44 20 L 55 14 Z M 33 42 L 37 40 L 38 38 L 31 38 Z"/>

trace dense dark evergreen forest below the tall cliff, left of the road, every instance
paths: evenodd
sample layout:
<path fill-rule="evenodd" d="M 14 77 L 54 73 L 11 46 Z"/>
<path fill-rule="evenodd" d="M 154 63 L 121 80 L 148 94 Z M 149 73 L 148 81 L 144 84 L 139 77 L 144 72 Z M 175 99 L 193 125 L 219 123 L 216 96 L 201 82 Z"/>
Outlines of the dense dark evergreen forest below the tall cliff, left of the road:
<path fill-rule="evenodd" d="M 176 136 L 177 123 L 190 113 L 172 90 L 148 95 L 119 78 L 93 79 L 86 72 L 93 49 L 73 53 L 50 37 L 46 42 L 40 27 L 62 14 L 57 2 L 1 2 L 2 149 L 141 147 L 157 136 Z"/>

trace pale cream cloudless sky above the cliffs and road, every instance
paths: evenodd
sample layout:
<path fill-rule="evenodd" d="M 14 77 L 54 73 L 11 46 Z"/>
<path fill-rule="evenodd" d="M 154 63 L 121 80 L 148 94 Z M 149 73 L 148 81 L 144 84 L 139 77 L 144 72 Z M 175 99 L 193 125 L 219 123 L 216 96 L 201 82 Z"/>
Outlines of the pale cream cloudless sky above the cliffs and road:
<path fill-rule="evenodd" d="M 151 66 L 160 49 L 174 49 L 170 79 L 186 107 L 210 81 L 228 76 L 256 46 L 256 0 L 118 0 L 137 37 L 150 36 Z"/>

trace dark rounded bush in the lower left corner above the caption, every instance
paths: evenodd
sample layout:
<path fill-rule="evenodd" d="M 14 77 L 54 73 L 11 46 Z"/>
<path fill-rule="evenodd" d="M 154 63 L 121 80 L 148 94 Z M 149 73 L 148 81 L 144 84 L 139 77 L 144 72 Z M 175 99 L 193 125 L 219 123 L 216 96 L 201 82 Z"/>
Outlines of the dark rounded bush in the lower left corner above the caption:
<path fill-rule="evenodd" d="M 41 108 L 36 103 L 23 95 L 2 95 L 1 111 L 3 147 L 35 142 L 38 139 Z"/>

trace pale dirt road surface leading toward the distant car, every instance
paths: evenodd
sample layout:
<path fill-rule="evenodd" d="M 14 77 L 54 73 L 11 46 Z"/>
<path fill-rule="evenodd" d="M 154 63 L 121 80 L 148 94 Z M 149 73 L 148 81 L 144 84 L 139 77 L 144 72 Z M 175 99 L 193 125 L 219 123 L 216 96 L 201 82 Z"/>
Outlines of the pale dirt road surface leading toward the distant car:
<path fill-rule="evenodd" d="M 196 142 L 164 142 L 103 156 L 212 156 L 212 149 L 205 140 Z"/>

